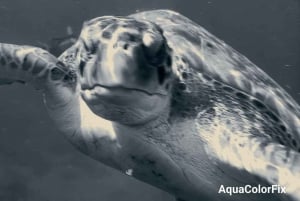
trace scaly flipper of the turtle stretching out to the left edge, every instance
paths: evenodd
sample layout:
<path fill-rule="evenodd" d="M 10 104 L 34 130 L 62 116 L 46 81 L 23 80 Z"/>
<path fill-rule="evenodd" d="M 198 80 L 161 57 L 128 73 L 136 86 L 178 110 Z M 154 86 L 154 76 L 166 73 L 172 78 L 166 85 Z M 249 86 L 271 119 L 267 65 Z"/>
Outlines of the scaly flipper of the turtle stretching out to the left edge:
<path fill-rule="evenodd" d="M 0 85 L 21 82 L 41 89 L 52 81 L 69 79 L 69 72 L 69 68 L 41 48 L 0 43 Z"/>

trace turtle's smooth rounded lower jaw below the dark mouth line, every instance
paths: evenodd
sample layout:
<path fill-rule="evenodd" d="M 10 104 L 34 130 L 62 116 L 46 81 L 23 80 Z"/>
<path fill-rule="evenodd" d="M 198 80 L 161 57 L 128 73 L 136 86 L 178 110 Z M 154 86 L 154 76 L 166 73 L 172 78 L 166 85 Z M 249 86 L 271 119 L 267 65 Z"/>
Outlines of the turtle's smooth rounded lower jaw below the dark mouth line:
<path fill-rule="evenodd" d="M 95 86 L 81 91 L 83 100 L 98 116 L 124 125 L 140 125 L 167 112 L 169 96 L 122 87 Z"/>

